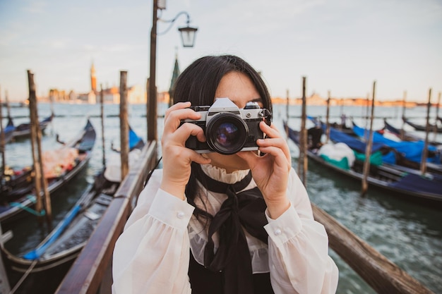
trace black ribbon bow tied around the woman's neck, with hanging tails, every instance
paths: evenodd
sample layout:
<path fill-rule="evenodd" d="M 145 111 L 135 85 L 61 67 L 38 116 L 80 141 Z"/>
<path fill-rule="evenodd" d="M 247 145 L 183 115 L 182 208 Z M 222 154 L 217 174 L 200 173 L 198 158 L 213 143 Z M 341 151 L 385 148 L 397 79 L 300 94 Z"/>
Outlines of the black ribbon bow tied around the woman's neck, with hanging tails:
<path fill-rule="evenodd" d="M 198 165 L 196 178 L 212 192 L 227 194 L 220 211 L 208 229 L 208 243 L 204 250 L 204 266 L 210 271 L 224 273 L 224 293 L 253 294 L 253 271 L 249 246 L 244 229 L 267 243 L 264 229 L 266 204 L 258 187 L 244 190 L 251 181 L 251 173 L 234 184 L 222 183 L 207 176 Z M 213 234 L 219 233 L 220 245 L 214 253 Z"/>

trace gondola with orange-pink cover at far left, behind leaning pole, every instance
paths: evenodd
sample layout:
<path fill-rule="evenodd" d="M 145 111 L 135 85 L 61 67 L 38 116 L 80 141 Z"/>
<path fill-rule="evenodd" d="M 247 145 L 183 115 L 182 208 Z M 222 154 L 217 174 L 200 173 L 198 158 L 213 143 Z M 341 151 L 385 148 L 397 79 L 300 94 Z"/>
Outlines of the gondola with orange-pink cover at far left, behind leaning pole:
<path fill-rule="evenodd" d="M 63 147 L 48 152 L 43 164 L 51 161 L 51 154 L 54 155 L 53 169 L 47 168 L 45 177 L 47 178 L 48 191 L 52 195 L 53 192 L 59 190 L 63 185 L 68 183 L 71 178 L 76 176 L 80 171 L 85 169 L 91 157 L 92 147 L 95 144 L 95 129 L 89 119 L 85 128 Z M 55 158 L 61 157 L 69 159 L 60 165 Z M 0 191 L 0 221 L 7 223 L 13 221 L 16 217 L 28 212 L 32 212 L 35 206 L 36 197 L 34 190 L 34 180 L 32 178 L 32 167 L 25 168 L 22 171 L 12 171 L 10 176 L 4 176 L 1 183 Z"/>

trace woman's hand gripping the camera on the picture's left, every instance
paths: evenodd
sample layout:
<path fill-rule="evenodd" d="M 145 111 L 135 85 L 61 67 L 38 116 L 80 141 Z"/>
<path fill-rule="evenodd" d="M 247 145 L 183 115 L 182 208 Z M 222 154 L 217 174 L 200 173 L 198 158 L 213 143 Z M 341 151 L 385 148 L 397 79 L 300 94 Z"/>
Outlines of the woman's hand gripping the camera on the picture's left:
<path fill-rule="evenodd" d="M 191 176 L 191 163 L 209 164 L 210 159 L 186 148 L 186 140 L 196 136 L 205 142 L 204 131 L 194 123 L 180 123 L 184 119 L 197 120 L 201 114 L 190 109 L 191 102 L 179 102 L 167 109 L 165 126 L 161 138 L 162 182 L 160 188 L 184 200 L 184 191 Z"/>

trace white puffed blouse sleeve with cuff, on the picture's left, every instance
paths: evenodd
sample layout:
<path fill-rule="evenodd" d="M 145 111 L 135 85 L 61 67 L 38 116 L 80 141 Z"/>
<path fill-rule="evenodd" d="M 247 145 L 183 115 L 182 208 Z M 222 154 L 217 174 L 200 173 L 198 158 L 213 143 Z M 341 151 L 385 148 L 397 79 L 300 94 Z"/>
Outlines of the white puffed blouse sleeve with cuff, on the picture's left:
<path fill-rule="evenodd" d="M 189 233 L 193 207 L 161 190 L 155 170 L 114 248 L 112 293 L 191 293 Z"/>

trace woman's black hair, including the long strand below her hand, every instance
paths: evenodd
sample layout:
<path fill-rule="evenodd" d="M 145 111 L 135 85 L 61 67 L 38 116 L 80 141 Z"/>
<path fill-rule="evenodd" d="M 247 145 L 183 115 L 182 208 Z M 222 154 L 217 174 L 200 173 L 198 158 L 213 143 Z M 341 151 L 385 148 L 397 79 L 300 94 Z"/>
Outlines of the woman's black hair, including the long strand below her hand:
<path fill-rule="evenodd" d="M 196 105 L 212 105 L 215 100 L 215 92 L 222 77 L 227 73 L 239 72 L 244 73 L 250 79 L 256 90 L 260 94 L 263 102 L 263 108 L 272 111 L 272 102 L 270 100 L 270 93 L 261 78 L 261 75 L 244 59 L 233 55 L 222 56 L 204 56 L 196 61 L 193 61 L 181 75 L 177 78 L 174 85 L 173 97 L 174 102 L 188 102 L 193 106 Z M 198 185 L 196 183 L 194 166 L 192 163 L 192 173 L 189 178 L 189 183 L 186 185 L 187 201 L 196 207 L 193 214 L 211 218 L 210 214 L 205 210 L 198 208 L 195 204 L 195 198 L 198 196 Z M 205 186 L 205 183 L 202 183 Z"/>

